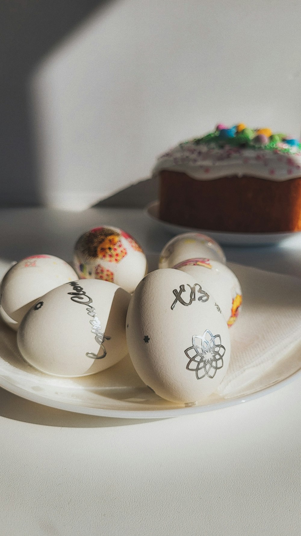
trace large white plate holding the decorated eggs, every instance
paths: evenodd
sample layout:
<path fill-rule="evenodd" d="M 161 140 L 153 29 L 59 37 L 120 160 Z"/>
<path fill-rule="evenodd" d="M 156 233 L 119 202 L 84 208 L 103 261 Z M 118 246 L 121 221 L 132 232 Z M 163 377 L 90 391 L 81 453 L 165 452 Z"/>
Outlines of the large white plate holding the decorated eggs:
<path fill-rule="evenodd" d="M 152 259 L 154 265 L 157 259 L 158 256 Z M 237 272 L 243 286 L 246 287 L 247 283 L 251 289 L 258 287 L 260 278 L 261 283 L 265 285 L 266 281 L 272 277 L 272 274 L 268 272 L 246 266 L 230 266 Z M 275 274 L 273 276 L 275 277 Z M 297 289 L 299 288 L 299 281 L 296 278 L 277 277 L 282 278 L 283 292 L 285 285 L 289 287 L 293 284 L 297 286 Z M 253 298 L 253 291 L 248 294 L 251 298 L 248 297 L 249 301 L 245 301 L 242 315 L 249 314 L 252 319 L 254 308 L 258 307 L 258 296 Z M 271 311 L 274 306 L 273 296 L 272 289 L 272 297 L 265 300 L 267 315 L 269 303 Z M 295 292 L 293 296 L 295 300 Z M 294 307 L 299 307 L 299 301 L 300 295 L 296 292 Z M 249 318 L 247 322 L 244 321 L 244 324 L 249 326 Z M 231 328 L 231 330 L 235 329 L 239 330 L 239 321 Z M 235 350 L 235 344 L 234 337 L 232 338 L 232 352 Z M 223 398 L 219 394 L 212 394 L 197 406 L 180 407 L 161 399 L 147 388 L 136 374 L 129 356 L 114 367 L 92 376 L 59 378 L 44 375 L 21 358 L 16 344 L 16 333 L 0 322 L 0 386 L 28 400 L 72 412 L 132 419 L 160 419 L 199 413 L 244 403 L 278 389 L 299 376 L 301 376 L 301 348 L 292 354 L 283 355 L 279 366 L 275 366 L 272 372 L 269 371 L 266 377 L 260 378 L 257 384 L 240 392 L 239 396 L 228 395 L 227 398 Z"/>

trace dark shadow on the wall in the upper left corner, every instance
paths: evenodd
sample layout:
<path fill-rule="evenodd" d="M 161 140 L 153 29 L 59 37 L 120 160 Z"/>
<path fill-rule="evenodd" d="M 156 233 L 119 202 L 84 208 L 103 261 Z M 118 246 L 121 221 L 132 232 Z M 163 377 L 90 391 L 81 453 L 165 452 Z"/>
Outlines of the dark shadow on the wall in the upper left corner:
<path fill-rule="evenodd" d="M 109 1 L 0 3 L 0 206 L 41 203 L 27 93 L 35 65 L 92 10 Z"/>

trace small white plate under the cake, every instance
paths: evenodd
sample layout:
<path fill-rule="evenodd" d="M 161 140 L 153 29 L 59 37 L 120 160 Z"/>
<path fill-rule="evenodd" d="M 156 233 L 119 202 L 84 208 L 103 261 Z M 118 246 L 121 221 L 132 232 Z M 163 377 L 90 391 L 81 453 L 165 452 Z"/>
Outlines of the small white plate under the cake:
<path fill-rule="evenodd" d="M 168 230 L 169 233 L 176 235 L 180 233 L 188 233 L 191 231 L 197 231 L 198 233 L 204 233 L 206 235 L 212 236 L 216 242 L 219 242 L 223 245 L 268 245 L 268 244 L 277 244 L 301 234 L 300 231 L 290 231 L 288 233 L 231 233 L 229 231 L 212 231 L 209 229 L 195 229 L 192 227 L 185 227 L 183 225 L 170 224 L 168 221 L 163 221 L 159 218 L 159 201 L 154 201 L 150 203 L 145 208 L 147 215 L 155 220 L 158 224 L 161 225 L 164 229 Z"/>

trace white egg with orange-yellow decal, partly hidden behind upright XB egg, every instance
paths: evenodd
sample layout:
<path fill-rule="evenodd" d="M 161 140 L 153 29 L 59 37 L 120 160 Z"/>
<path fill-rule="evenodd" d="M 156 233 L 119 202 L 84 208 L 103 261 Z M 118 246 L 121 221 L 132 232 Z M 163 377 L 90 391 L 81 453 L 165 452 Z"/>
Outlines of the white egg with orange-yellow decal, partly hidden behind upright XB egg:
<path fill-rule="evenodd" d="M 236 275 L 217 260 L 189 259 L 175 266 L 189 273 L 219 304 L 230 327 L 236 321 L 242 305 L 242 288 Z"/>

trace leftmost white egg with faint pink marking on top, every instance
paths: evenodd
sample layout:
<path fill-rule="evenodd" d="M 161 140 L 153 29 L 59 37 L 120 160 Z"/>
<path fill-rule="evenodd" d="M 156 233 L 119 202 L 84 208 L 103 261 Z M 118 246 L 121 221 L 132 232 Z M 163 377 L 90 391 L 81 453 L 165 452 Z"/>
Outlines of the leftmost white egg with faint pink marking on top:
<path fill-rule="evenodd" d="M 14 330 L 40 296 L 77 279 L 73 268 L 53 255 L 33 255 L 6 272 L 0 287 L 2 318 Z"/>

